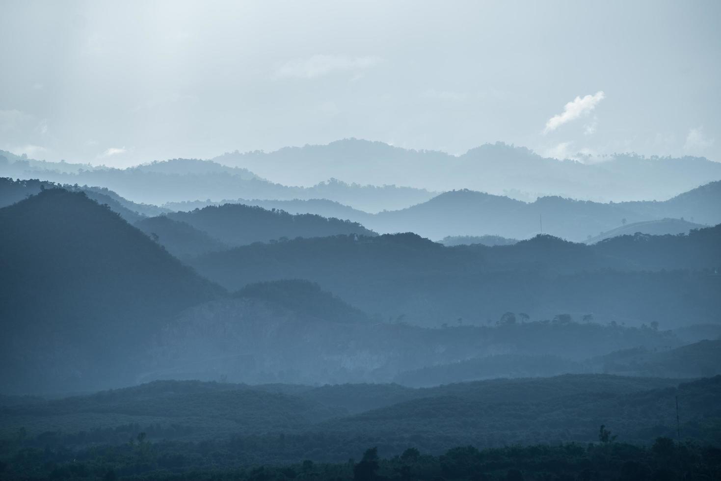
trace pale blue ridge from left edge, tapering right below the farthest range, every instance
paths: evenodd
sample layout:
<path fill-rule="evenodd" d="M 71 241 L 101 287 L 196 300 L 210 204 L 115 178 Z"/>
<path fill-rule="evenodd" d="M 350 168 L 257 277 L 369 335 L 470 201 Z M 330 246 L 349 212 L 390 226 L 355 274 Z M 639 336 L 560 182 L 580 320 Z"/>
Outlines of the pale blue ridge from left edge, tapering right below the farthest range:
<path fill-rule="evenodd" d="M 12 162 L 11 162 L 12 159 Z M 244 168 L 227 167 L 199 159 L 171 159 L 127 169 L 78 166 L 64 162 L 35 161 L 0 151 L 0 176 L 19 179 L 42 178 L 61 185 L 102 185 L 138 203 L 222 198 L 328 198 L 365 211 L 402 208 L 423 202 L 433 193 L 396 185 L 359 185 L 335 178 L 311 187 L 281 185 L 262 179 Z"/>

